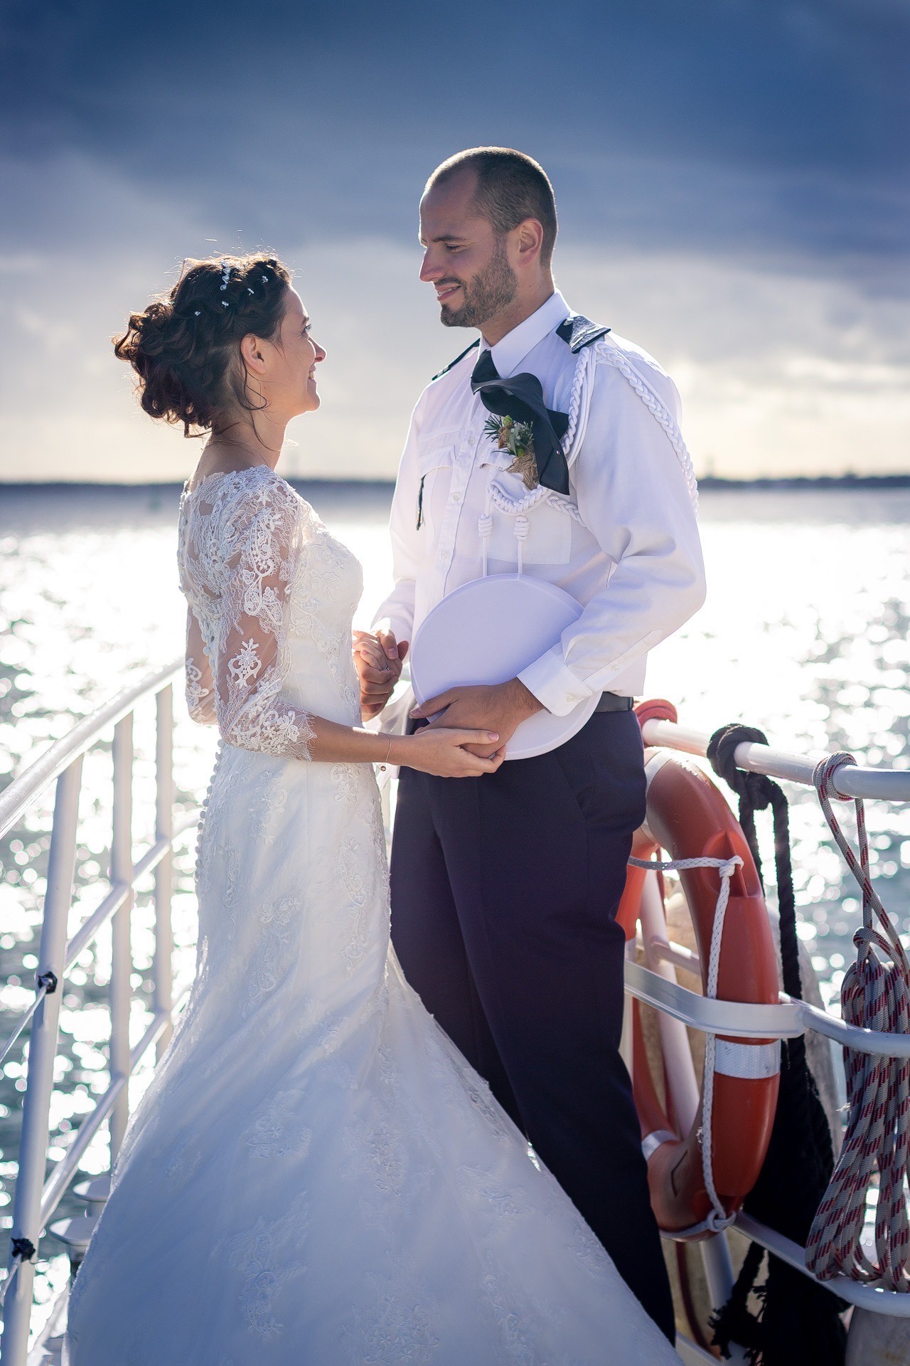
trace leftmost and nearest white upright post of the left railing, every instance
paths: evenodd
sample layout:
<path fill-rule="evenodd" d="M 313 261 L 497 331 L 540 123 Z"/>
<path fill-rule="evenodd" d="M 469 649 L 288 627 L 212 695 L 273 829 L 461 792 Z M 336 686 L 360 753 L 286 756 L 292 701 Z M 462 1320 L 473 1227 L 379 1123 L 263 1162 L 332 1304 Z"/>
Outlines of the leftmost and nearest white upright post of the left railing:
<path fill-rule="evenodd" d="M 27 1239 L 35 1250 L 41 1235 L 41 1188 L 48 1160 L 50 1093 L 53 1090 L 53 1063 L 57 1053 L 67 921 L 72 903 L 80 784 L 82 757 L 74 759 L 57 779 L 48 858 L 48 891 L 44 899 L 44 925 L 35 974 L 41 977 L 45 973 L 53 973 L 56 986 L 53 990 L 48 990 L 31 1024 L 29 1071 L 22 1102 L 19 1175 L 12 1206 L 11 1233 L 14 1239 Z M 12 1258 L 10 1265 L 12 1266 Z M 3 1346 L 0 1347 L 3 1366 L 25 1366 L 29 1350 L 33 1284 L 34 1264 L 30 1259 L 19 1262 L 4 1305 Z"/>

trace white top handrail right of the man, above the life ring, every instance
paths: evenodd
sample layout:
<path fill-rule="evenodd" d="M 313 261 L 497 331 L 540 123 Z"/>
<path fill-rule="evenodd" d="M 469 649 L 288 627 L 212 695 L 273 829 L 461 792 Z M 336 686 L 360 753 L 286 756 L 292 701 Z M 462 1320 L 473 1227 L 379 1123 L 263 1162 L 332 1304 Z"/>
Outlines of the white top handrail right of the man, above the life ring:
<path fill-rule="evenodd" d="M 669 750 L 682 750 L 684 754 L 708 753 L 707 731 L 696 731 L 689 725 L 679 725 L 677 721 L 660 721 L 651 719 L 641 727 L 641 736 L 645 744 L 666 747 Z M 814 757 L 805 758 L 799 754 L 787 754 L 784 750 L 775 750 L 771 744 L 757 744 L 744 740 L 737 744 L 737 768 L 746 773 L 765 773 L 768 777 L 783 779 L 786 783 L 801 783 L 804 787 L 813 787 L 812 775 L 820 759 L 827 758 L 827 751 L 819 750 Z M 880 798 L 885 802 L 910 802 L 910 769 L 880 769 L 864 768 L 861 764 L 845 764 L 831 777 L 835 792 L 846 799 Z"/>

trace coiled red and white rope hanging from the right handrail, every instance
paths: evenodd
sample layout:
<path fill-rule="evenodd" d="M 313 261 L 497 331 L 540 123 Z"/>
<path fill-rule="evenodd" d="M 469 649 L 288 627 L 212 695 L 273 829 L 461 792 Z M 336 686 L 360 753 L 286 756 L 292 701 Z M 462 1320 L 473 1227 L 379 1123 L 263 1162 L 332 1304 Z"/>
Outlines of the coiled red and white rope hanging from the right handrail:
<path fill-rule="evenodd" d="M 862 891 L 862 928 L 853 936 L 857 960 L 840 988 L 843 1019 L 861 1029 L 906 1034 L 910 1030 L 910 964 L 888 912 L 869 877 L 869 840 L 861 800 L 855 851 L 847 841 L 831 798 L 834 775 L 851 754 L 832 754 L 814 772 L 821 810 L 838 848 Z M 873 923 L 873 914 L 877 928 Z M 890 959 L 890 964 L 881 960 Z M 849 1120 L 831 1184 L 812 1224 L 806 1266 L 821 1280 L 839 1272 L 885 1290 L 910 1291 L 910 1228 L 905 1180 L 910 1157 L 910 1059 L 845 1048 Z M 861 1246 L 866 1191 L 879 1172 L 876 1257 Z"/>

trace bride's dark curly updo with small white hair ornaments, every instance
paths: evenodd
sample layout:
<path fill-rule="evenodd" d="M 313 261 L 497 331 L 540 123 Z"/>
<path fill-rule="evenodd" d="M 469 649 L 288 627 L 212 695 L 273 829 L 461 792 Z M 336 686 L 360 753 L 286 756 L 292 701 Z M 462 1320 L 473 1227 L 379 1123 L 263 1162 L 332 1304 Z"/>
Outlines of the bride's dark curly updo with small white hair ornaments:
<path fill-rule="evenodd" d="M 248 333 L 271 342 L 281 328 L 291 272 L 274 257 L 213 257 L 187 261 L 171 290 L 142 313 L 131 313 L 115 355 L 139 376 L 143 410 L 165 422 L 211 428 L 240 404 L 256 413 L 240 342 Z"/>

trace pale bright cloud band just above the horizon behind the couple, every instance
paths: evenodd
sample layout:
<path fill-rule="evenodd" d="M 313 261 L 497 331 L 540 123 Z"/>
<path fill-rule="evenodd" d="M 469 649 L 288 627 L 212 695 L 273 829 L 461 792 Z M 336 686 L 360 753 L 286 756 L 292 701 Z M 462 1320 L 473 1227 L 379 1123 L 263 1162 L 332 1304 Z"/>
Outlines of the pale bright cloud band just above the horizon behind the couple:
<path fill-rule="evenodd" d="M 18 169 L 33 247 L 4 258 L 0 478 L 181 479 L 198 447 L 139 410 L 109 337 L 205 253 L 195 208 L 80 156 L 55 163 L 65 238 L 38 231 L 45 168 Z M 127 232 L 127 227 L 130 231 Z M 224 236 L 221 238 L 221 243 Z M 416 243 L 289 240 L 326 346 L 323 407 L 292 425 L 288 469 L 390 478 L 411 408 L 468 340 L 439 326 Z M 906 467 L 910 343 L 902 301 L 838 275 L 720 253 L 632 250 L 563 231 L 557 276 L 574 307 L 633 337 L 677 378 L 700 469 L 724 474 Z"/>

